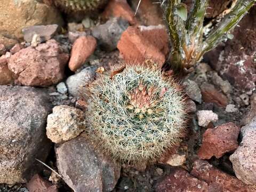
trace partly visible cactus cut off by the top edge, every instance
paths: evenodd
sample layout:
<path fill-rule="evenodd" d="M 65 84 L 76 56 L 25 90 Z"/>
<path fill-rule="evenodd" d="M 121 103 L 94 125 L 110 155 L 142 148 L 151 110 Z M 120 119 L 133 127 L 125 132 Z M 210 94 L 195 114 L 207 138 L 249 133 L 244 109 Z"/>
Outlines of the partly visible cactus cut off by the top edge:
<path fill-rule="evenodd" d="M 54 3 L 66 13 L 88 12 L 98 9 L 106 0 L 55 0 Z"/>

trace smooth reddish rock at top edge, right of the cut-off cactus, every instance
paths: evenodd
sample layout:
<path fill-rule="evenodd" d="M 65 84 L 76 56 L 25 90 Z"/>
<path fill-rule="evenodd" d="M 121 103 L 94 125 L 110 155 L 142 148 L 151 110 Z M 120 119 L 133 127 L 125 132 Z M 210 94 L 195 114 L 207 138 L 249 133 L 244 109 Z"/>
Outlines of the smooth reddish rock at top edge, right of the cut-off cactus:
<path fill-rule="evenodd" d="M 125 0 L 111 0 L 102 13 L 103 18 L 121 17 L 129 21 L 130 25 L 137 23 L 130 5 Z"/>

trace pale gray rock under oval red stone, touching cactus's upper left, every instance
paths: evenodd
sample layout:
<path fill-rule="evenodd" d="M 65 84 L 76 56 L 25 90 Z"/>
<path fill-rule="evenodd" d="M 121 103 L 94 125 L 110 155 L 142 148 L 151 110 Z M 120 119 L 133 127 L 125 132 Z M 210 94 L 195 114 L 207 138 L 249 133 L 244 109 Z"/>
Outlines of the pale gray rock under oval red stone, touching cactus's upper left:
<path fill-rule="evenodd" d="M 86 67 L 75 75 L 68 77 L 66 84 L 68 86 L 68 92 L 74 97 L 80 96 L 80 87 L 86 85 L 93 80 L 95 75 L 95 66 Z"/>

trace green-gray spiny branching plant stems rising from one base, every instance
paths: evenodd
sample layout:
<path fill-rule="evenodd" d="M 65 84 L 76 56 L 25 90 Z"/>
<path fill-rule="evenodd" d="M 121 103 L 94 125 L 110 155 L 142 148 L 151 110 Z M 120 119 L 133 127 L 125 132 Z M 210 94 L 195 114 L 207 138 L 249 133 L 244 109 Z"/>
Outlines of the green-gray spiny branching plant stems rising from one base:
<path fill-rule="evenodd" d="M 209 0 L 194 0 L 188 18 L 182 20 L 178 9 L 183 6 L 180 0 L 163 0 L 162 8 L 172 43 L 171 67 L 181 72 L 199 62 L 204 53 L 212 50 L 227 38 L 230 30 L 244 17 L 254 5 L 255 0 L 237 0 L 235 6 L 215 29 L 204 39 L 204 17 Z M 183 17 L 184 18 L 184 17 Z"/>

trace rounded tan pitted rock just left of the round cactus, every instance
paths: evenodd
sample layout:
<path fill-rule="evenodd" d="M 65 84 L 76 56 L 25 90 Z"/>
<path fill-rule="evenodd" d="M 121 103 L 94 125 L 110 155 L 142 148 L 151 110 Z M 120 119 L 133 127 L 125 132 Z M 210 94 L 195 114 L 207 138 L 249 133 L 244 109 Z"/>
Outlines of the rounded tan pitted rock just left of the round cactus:
<path fill-rule="evenodd" d="M 52 114 L 47 117 L 46 134 L 55 143 L 73 139 L 84 129 L 84 113 L 75 107 L 56 106 L 52 109 Z"/>

